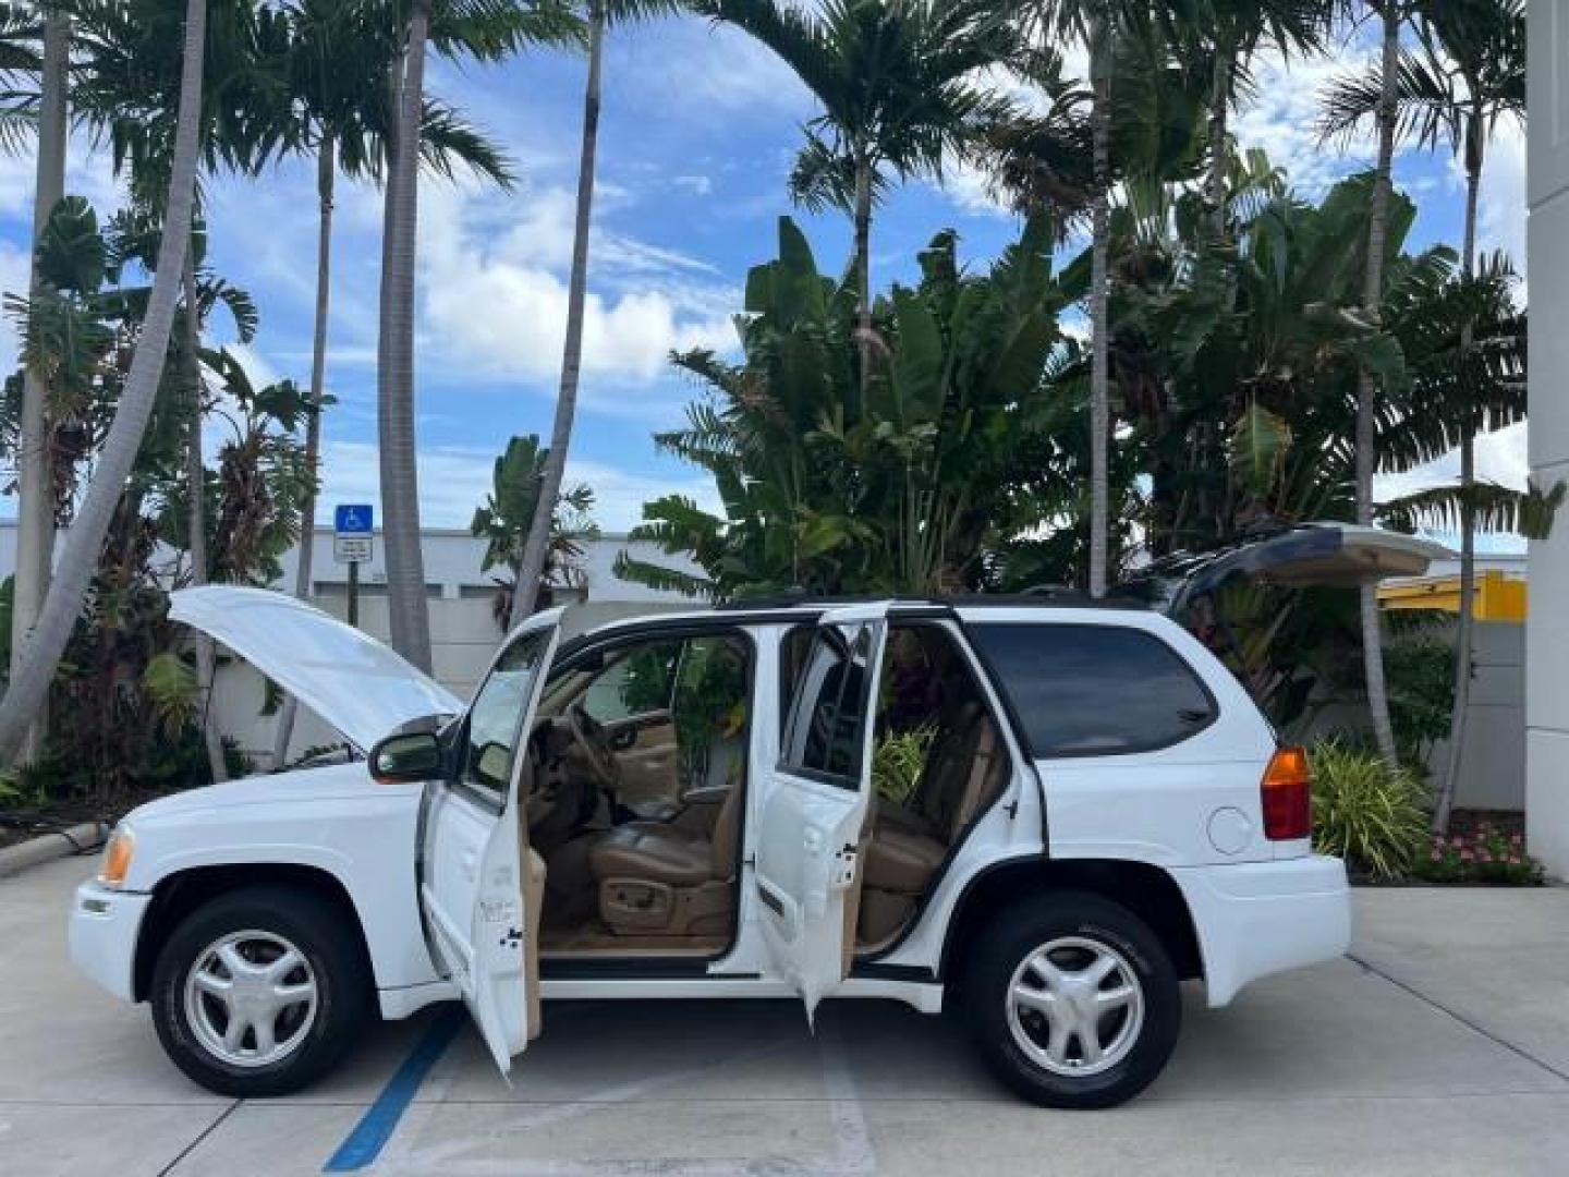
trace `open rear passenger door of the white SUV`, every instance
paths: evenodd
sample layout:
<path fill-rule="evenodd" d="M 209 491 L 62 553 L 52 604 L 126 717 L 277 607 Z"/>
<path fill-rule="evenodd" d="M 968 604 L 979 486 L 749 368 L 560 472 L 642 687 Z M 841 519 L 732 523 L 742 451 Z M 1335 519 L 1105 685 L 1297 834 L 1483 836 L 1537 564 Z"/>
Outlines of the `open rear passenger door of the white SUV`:
<path fill-rule="evenodd" d="M 763 805 L 756 855 L 763 934 L 806 1003 L 808 1020 L 844 979 L 846 937 L 855 935 L 886 629 L 885 604 L 822 617 Z"/>

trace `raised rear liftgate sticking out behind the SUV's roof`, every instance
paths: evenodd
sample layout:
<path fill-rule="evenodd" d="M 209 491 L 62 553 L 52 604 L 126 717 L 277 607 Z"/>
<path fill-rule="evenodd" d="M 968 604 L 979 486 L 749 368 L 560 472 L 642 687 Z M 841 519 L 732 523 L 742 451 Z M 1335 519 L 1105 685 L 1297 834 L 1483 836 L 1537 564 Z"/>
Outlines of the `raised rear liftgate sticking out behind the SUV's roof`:
<path fill-rule="evenodd" d="M 1141 568 L 1116 592 L 1145 599 L 1177 617 L 1233 576 L 1296 588 L 1356 587 L 1390 576 L 1422 576 L 1432 560 L 1450 554 L 1447 548 L 1414 535 L 1351 523 L 1307 523 L 1210 552 L 1167 556 Z"/>

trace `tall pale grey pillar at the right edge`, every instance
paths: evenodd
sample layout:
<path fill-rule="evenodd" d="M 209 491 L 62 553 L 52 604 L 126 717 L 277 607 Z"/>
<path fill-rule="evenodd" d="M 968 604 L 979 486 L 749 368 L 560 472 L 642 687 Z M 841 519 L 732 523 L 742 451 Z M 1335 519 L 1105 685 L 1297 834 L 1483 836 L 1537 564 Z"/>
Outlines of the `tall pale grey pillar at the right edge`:
<path fill-rule="evenodd" d="M 1530 0 L 1531 474 L 1569 479 L 1569 0 Z M 1569 521 L 1531 545 L 1525 642 L 1531 854 L 1569 877 Z"/>

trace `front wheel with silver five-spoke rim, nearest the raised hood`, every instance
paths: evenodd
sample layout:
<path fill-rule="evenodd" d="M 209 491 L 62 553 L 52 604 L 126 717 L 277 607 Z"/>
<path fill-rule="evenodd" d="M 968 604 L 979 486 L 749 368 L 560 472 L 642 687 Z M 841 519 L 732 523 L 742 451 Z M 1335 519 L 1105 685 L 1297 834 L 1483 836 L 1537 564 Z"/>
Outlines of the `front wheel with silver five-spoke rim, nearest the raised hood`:
<path fill-rule="evenodd" d="M 174 929 L 152 975 L 158 1040 L 221 1095 L 298 1091 L 353 1044 L 370 1006 L 359 929 L 292 888 L 231 891 Z"/>

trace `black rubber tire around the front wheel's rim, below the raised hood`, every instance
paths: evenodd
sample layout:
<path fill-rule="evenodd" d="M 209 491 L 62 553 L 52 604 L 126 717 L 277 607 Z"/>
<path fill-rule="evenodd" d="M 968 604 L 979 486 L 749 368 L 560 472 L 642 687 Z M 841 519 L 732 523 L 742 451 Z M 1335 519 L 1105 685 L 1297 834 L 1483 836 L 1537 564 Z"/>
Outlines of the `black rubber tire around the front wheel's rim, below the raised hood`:
<path fill-rule="evenodd" d="M 315 984 L 314 1014 L 284 1012 L 284 1029 L 290 1029 L 287 1018 L 295 1018 L 295 1029 L 309 1026 L 276 1061 L 245 1066 L 224 1059 L 202 1044 L 187 1011 L 191 970 L 210 960 L 212 945 L 238 932 L 281 937 L 295 946 Z M 292 887 L 248 887 L 202 904 L 163 943 L 152 973 L 152 1023 L 174 1066 L 207 1091 L 240 1099 L 287 1095 L 320 1078 L 355 1044 L 370 1001 L 370 970 L 353 916 L 340 904 Z M 246 1033 L 253 1050 L 259 1048 L 254 1031 Z"/>

